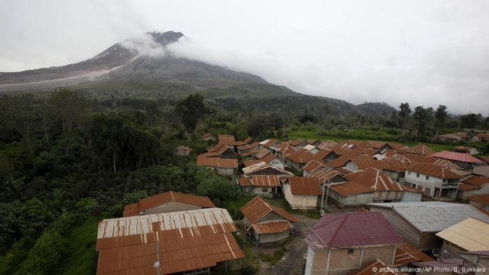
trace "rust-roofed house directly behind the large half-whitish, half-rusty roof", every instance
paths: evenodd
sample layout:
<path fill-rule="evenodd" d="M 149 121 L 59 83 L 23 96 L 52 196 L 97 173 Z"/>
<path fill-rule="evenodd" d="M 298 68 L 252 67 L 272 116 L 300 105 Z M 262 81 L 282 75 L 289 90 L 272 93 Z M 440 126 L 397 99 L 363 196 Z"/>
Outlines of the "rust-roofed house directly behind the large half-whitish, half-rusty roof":
<path fill-rule="evenodd" d="M 122 216 L 140 216 L 211 207 L 216 206 L 207 197 L 169 191 L 141 199 L 132 205 L 126 205 Z"/>

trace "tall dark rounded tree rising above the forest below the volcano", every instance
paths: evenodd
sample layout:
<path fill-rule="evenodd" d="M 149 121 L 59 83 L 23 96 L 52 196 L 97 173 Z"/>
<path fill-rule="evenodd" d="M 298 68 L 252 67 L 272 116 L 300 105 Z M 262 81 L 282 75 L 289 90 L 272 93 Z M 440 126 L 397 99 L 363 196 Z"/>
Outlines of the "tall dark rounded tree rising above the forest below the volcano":
<path fill-rule="evenodd" d="M 192 132 L 205 114 L 204 98 L 199 94 L 189 95 L 177 104 L 175 112 L 180 115 L 187 131 Z"/>

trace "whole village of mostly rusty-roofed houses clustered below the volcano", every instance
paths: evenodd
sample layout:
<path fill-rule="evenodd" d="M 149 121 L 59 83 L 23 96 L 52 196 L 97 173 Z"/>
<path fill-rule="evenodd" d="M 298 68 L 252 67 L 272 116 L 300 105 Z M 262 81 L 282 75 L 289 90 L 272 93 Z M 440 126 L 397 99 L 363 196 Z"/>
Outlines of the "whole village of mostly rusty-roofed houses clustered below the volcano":
<path fill-rule="evenodd" d="M 258 274 L 489 272 L 489 158 L 474 148 L 203 139 L 197 165 L 252 197 L 242 220 L 207 197 L 141 199 L 99 223 L 97 274 L 246 274 L 250 246 L 278 255 Z"/>

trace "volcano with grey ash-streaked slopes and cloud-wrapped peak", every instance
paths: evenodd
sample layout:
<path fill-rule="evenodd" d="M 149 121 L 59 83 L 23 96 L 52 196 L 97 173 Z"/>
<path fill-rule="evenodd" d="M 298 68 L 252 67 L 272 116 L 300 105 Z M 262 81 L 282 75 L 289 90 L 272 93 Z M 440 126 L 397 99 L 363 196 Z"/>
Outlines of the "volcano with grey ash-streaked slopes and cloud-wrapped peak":
<path fill-rule="evenodd" d="M 307 96 L 250 73 L 177 56 L 168 46 L 187 39 L 175 31 L 147 32 L 123 40 L 91 59 L 66 66 L 0 73 L 0 92 L 52 91 L 71 87 L 90 91 L 159 91 L 170 98 L 202 94 L 234 110 L 289 110 L 328 114 L 385 114 L 394 109 L 366 103 L 358 107 L 333 98 Z"/>

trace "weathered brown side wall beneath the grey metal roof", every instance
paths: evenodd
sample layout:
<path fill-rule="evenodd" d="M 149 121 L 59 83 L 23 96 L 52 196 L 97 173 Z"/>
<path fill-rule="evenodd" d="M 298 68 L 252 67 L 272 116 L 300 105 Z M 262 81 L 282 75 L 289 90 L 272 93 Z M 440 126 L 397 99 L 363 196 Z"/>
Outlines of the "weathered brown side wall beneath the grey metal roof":
<path fill-rule="evenodd" d="M 421 232 L 418 232 L 416 228 L 410 225 L 404 218 L 395 213 L 392 209 L 381 207 L 370 207 L 370 211 L 380 211 L 384 214 L 384 217 L 388 219 L 397 234 L 401 235 L 402 239 L 409 242 L 409 244 L 419 249 L 421 241 Z"/>

